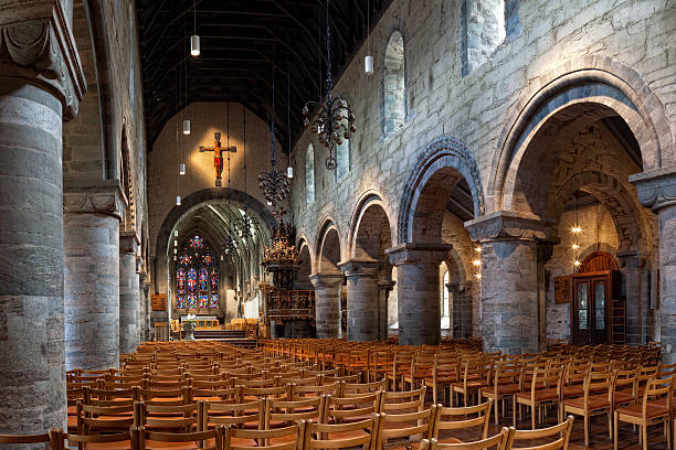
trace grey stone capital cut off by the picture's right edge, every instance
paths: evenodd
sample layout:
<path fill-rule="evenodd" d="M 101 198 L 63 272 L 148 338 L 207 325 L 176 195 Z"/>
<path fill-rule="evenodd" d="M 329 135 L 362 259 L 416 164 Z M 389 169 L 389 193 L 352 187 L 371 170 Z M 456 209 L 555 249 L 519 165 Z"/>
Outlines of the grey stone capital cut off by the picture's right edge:
<path fill-rule="evenodd" d="M 676 206 L 676 165 L 636 173 L 630 182 L 636 186 L 638 202 L 653 212 Z"/>

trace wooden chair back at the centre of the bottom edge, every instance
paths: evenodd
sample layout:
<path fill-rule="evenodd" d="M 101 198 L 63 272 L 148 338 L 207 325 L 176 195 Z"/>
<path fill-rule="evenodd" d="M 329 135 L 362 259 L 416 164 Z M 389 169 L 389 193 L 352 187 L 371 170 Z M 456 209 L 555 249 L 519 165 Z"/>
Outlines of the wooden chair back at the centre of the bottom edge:
<path fill-rule="evenodd" d="M 379 415 L 348 424 L 305 422 L 305 438 L 302 449 L 379 449 L 376 439 L 379 433 Z"/>

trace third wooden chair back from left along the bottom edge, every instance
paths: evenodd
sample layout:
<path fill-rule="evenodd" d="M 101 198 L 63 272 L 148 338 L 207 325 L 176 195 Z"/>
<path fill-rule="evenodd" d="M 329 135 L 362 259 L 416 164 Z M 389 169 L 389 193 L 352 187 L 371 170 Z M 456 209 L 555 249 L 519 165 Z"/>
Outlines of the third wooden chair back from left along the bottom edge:
<path fill-rule="evenodd" d="M 158 432 L 138 427 L 136 450 L 166 450 L 167 448 L 176 448 L 177 444 L 180 444 L 181 449 L 187 449 L 188 447 L 184 446 L 188 446 L 189 442 L 194 442 L 193 448 L 196 450 L 221 450 L 223 448 L 223 431 L 222 426 L 212 430 L 196 432 Z M 150 443 L 150 441 L 157 443 Z M 208 442 L 213 442 L 213 444 L 208 444 Z"/>

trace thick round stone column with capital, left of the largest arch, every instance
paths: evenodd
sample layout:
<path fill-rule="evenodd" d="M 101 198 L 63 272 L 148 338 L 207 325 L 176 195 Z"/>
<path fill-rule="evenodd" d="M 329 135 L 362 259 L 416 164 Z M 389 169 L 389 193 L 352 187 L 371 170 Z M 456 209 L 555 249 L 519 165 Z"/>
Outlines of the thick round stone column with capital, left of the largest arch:
<path fill-rule="evenodd" d="M 538 244 L 551 224 L 510 212 L 465 223 L 482 244 L 482 339 L 484 351 L 537 353 L 539 338 Z"/>

